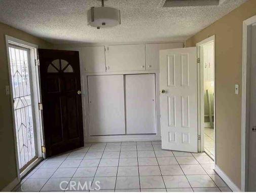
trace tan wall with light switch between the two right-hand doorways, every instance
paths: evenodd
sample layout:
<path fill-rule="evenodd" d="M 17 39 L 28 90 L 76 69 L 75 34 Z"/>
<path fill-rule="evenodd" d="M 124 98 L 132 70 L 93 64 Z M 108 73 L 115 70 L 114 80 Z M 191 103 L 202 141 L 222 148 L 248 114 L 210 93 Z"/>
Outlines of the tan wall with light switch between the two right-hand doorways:
<path fill-rule="evenodd" d="M 243 21 L 256 15 L 249 0 L 187 40 L 187 47 L 215 34 L 216 164 L 241 186 L 241 82 Z M 235 95 L 235 84 L 240 85 Z"/>

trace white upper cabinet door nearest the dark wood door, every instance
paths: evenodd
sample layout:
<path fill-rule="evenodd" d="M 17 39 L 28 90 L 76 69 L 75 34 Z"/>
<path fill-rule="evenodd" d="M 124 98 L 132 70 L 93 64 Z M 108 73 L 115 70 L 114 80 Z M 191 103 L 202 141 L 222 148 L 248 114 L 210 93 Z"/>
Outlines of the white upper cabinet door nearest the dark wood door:
<path fill-rule="evenodd" d="M 85 47 L 81 49 L 85 72 L 105 72 L 105 47 Z"/>

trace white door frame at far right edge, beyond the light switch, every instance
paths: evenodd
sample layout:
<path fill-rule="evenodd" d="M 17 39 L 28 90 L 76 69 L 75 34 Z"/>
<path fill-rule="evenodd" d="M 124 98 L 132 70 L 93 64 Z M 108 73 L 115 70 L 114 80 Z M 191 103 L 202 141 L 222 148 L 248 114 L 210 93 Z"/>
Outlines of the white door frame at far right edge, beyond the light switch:
<path fill-rule="evenodd" d="M 247 191 L 248 177 L 248 139 L 250 131 L 249 112 L 250 112 L 250 27 L 256 23 L 256 16 L 243 21 L 243 58 L 242 58 L 242 149 L 241 149 L 241 191 Z M 248 72 L 248 74 L 247 74 Z M 247 88 L 247 89 L 246 89 Z"/>

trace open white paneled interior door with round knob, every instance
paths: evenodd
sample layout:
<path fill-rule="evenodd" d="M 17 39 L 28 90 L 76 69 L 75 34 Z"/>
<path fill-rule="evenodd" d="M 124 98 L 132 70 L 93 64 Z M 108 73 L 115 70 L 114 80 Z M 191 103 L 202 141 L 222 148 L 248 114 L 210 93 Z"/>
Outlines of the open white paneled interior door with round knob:
<path fill-rule="evenodd" d="M 163 149 L 198 151 L 196 59 L 196 47 L 160 51 Z"/>

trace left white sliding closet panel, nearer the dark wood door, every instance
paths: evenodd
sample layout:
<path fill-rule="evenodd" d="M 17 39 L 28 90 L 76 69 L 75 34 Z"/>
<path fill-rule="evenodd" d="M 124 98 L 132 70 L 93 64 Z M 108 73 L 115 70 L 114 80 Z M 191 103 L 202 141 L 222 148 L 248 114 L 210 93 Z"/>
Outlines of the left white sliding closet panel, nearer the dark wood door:
<path fill-rule="evenodd" d="M 125 134 L 123 75 L 88 76 L 90 135 Z"/>

